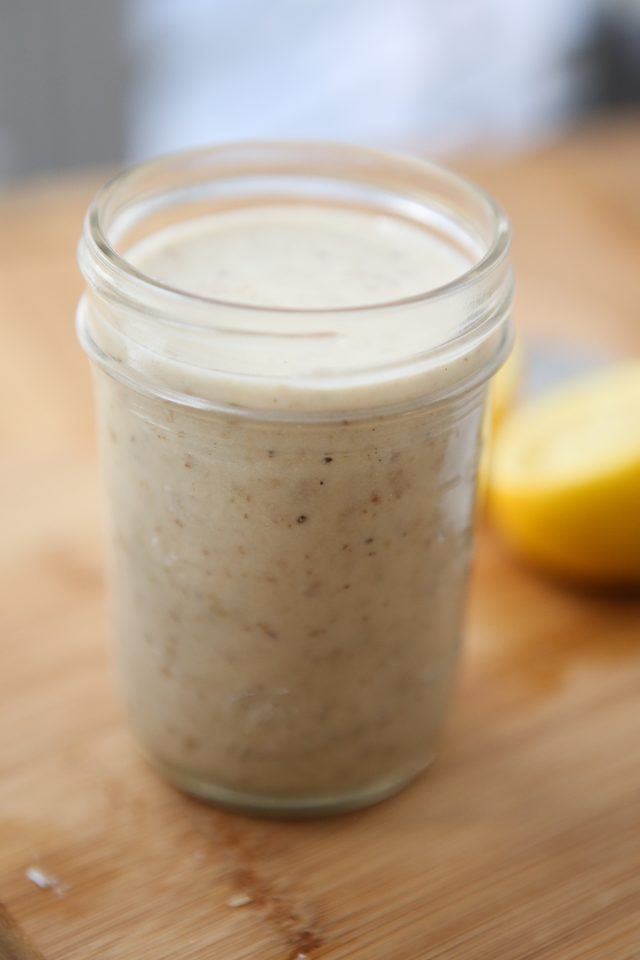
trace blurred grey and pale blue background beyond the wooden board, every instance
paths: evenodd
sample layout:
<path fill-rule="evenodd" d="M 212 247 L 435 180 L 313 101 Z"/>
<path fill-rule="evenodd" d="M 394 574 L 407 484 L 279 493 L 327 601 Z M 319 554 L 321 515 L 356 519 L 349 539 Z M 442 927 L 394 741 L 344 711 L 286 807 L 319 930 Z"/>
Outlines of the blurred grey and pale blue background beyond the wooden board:
<path fill-rule="evenodd" d="M 0 0 L 0 182 L 203 142 L 517 151 L 640 98 L 640 0 Z"/>

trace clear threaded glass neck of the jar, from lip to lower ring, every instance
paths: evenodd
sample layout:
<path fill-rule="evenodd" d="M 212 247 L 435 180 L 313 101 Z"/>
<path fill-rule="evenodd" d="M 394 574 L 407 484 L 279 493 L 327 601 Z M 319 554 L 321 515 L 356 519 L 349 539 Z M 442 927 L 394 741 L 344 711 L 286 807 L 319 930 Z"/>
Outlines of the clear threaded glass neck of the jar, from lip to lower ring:
<path fill-rule="evenodd" d="M 305 308 L 182 290 L 118 252 L 141 228 L 161 231 L 167 215 L 172 223 L 280 197 L 388 212 L 464 248 L 472 262 L 408 297 Z M 345 405 L 435 402 L 485 382 L 508 350 L 509 249 L 495 200 L 429 161 L 323 141 L 202 147 L 131 167 L 98 192 L 79 247 L 88 291 L 78 332 L 113 376 L 192 406 L 325 417 Z"/>

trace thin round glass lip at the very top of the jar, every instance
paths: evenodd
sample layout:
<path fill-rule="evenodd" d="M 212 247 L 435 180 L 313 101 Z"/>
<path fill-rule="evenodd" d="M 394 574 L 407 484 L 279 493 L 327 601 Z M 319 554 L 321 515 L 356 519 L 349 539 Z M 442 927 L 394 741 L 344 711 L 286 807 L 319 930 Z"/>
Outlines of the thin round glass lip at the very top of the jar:
<path fill-rule="evenodd" d="M 196 169 L 198 165 L 206 161 L 207 158 L 215 160 L 217 157 L 222 157 L 230 151 L 264 152 L 273 148 L 285 151 L 308 151 L 310 157 L 312 157 L 313 153 L 327 154 L 339 151 L 341 156 L 355 160 L 356 162 L 365 162 L 372 166 L 384 163 L 392 164 L 395 171 L 400 175 L 403 173 L 405 175 L 418 176 L 430 175 L 449 186 L 461 189 L 470 199 L 479 202 L 488 215 L 491 233 L 486 242 L 486 250 L 476 261 L 471 263 L 466 270 L 463 270 L 453 279 L 416 294 L 392 300 L 373 301 L 348 306 L 288 307 L 259 303 L 243 303 L 240 300 L 226 300 L 164 283 L 149 276 L 144 273 L 144 271 L 139 270 L 126 255 L 117 251 L 115 244 L 109 239 L 108 229 L 105 223 L 109 206 L 117 198 L 118 192 L 126 188 L 132 179 L 144 178 L 146 175 L 156 173 L 162 174 L 177 164 L 187 169 Z M 296 174 L 295 172 L 291 172 L 289 175 L 295 176 Z M 298 173 L 298 176 L 299 175 Z M 331 174 L 327 174 L 326 176 L 332 178 Z M 146 293 L 155 293 L 161 297 L 169 298 L 172 301 L 178 300 L 183 303 L 191 303 L 201 308 L 221 308 L 230 312 L 242 311 L 244 315 L 249 316 L 252 314 L 278 313 L 284 315 L 295 314 L 312 318 L 314 316 L 349 316 L 362 312 L 397 310 L 403 306 L 434 303 L 453 294 L 463 292 L 475 283 L 480 282 L 487 273 L 491 272 L 493 268 L 497 267 L 506 259 L 510 247 L 511 229 L 509 219 L 502 207 L 487 191 L 479 187 L 472 180 L 462 174 L 452 172 L 441 164 L 401 153 L 325 140 L 245 140 L 163 154 L 152 160 L 129 166 L 115 174 L 115 176 L 108 180 L 97 191 L 91 201 L 85 217 L 85 226 L 79 249 L 79 260 L 82 272 L 88 280 L 90 280 L 90 275 L 93 271 L 87 264 L 87 258 L 98 266 L 100 273 L 110 276 L 112 280 L 114 280 L 115 277 L 119 277 L 120 280 L 126 278 L 128 284 L 132 285 L 132 291 L 137 290 L 139 293 L 145 291 Z"/>

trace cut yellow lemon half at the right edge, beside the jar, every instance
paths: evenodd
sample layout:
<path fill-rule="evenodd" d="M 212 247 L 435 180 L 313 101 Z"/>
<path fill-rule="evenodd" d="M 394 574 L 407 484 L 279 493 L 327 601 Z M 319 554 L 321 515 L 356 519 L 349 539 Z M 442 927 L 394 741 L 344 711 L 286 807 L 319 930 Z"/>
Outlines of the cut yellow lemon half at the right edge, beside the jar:
<path fill-rule="evenodd" d="M 577 580 L 640 582 L 640 362 L 516 410 L 488 483 L 491 515 L 523 557 Z"/>

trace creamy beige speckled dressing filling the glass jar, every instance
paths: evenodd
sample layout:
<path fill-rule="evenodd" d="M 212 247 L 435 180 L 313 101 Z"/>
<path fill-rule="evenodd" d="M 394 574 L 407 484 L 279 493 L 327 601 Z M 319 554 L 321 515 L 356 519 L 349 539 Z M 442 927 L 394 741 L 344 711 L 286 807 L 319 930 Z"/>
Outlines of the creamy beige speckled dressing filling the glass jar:
<path fill-rule="evenodd" d="M 469 267 L 409 221 L 284 204 L 166 228 L 128 256 L 181 290 L 281 309 L 285 325 L 300 322 L 288 309 L 412 297 Z M 419 311 L 407 322 L 381 332 L 372 311 L 357 311 L 335 364 L 436 335 Z M 438 336 L 451 336 L 450 322 L 443 307 Z M 156 356 L 162 336 L 145 344 Z M 234 356 L 246 362 L 241 348 Z M 434 362 L 421 389 L 455 382 L 470 357 Z M 310 393 L 304 382 L 240 383 L 230 356 L 194 348 L 191 359 L 155 359 L 154 374 L 217 396 L 213 367 L 226 363 L 223 399 L 284 398 L 304 412 L 322 393 L 342 414 L 258 420 L 99 378 L 118 664 L 135 729 L 170 779 L 209 799 L 268 810 L 371 802 L 428 764 L 448 699 L 481 398 L 366 416 L 365 402 L 410 395 L 401 373 L 391 394 L 373 375 Z M 279 370 L 281 348 L 265 342 L 251 362 Z"/>

